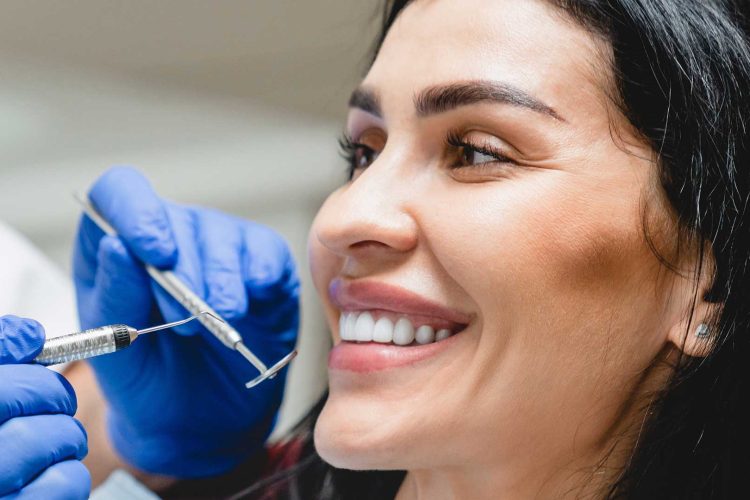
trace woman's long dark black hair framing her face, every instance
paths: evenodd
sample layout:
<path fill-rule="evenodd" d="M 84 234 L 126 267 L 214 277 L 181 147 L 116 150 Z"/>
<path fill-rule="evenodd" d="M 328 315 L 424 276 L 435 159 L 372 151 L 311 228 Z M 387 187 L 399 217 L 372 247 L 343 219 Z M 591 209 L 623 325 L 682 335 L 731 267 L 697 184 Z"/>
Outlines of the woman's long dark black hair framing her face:
<path fill-rule="evenodd" d="M 697 252 L 696 262 L 712 262 L 695 269 L 713 273 L 704 297 L 717 306 L 712 350 L 676 364 L 656 403 L 644 409 L 644 431 L 606 495 L 736 498 L 750 489 L 750 2 L 548 1 L 611 45 L 610 98 L 658 154 L 663 194 L 678 223 L 673 240 Z M 386 2 L 375 53 L 409 3 Z M 304 442 L 302 460 L 253 491 L 393 498 L 404 472 L 338 470 L 316 454 L 311 430 L 323 404 L 295 431 Z"/>

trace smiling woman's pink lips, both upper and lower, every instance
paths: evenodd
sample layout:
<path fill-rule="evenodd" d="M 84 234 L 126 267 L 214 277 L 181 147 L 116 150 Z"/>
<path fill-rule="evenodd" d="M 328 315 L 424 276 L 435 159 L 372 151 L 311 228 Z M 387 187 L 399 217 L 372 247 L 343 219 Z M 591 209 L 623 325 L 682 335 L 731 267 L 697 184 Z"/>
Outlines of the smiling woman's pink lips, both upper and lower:
<path fill-rule="evenodd" d="M 465 327 L 471 318 L 441 306 L 401 287 L 374 281 L 331 282 L 329 295 L 344 311 L 384 310 L 417 317 L 430 317 Z M 376 342 L 339 342 L 328 357 L 328 367 L 356 373 L 368 373 L 413 365 L 450 349 L 459 335 L 426 345 L 400 347 Z"/>

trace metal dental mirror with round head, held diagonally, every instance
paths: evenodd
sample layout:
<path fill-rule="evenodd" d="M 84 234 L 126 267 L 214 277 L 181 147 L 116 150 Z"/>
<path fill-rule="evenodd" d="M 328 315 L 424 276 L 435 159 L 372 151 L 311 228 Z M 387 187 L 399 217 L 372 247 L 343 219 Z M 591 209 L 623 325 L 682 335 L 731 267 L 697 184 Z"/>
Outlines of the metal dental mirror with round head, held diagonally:
<path fill-rule="evenodd" d="M 104 231 L 110 236 L 117 236 L 117 232 L 114 230 L 109 223 L 96 211 L 94 206 L 80 195 L 75 195 L 76 200 L 83 207 L 83 211 L 94 223 L 99 226 L 99 229 Z M 289 362 L 297 356 L 297 350 L 293 350 L 281 361 L 268 368 L 258 357 L 247 348 L 242 341 L 240 334 L 232 328 L 232 326 L 223 321 L 221 316 L 214 311 L 208 304 L 206 304 L 200 297 L 198 297 L 183 281 L 177 277 L 172 271 L 162 271 L 154 266 L 145 264 L 146 271 L 149 276 L 156 281 L 169 295 L 171 295 L 177 302 L 179 302 L 190 314 L 198 316 L 196 319 L 201 322 L 206 329 L 211 332 L 222 344 L 228 348 L 239 352 L 250 364 L 252 364 L 259 372 L 253 380 L 247 382 L 245 387 L 250 389 L 255 387 L 266 379 L 273 378 L 276 374 L 284 368 Z M 200 315 L 202 312 L 207 312 L 207 315 Z"/>

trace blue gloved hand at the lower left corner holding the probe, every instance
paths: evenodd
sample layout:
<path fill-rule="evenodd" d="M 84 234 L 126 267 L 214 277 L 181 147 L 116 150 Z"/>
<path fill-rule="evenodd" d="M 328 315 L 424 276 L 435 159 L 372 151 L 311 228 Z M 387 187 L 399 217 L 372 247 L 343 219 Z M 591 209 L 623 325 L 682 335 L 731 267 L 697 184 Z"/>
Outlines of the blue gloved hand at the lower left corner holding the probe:
<path fill-rule="evenodd" d="M 0 499 L 85 500 L 88 447 L 73 418 L 73 388 L 62 375 L 24 364 L 43 344 L 36 321 L 0 317 Z"/>

